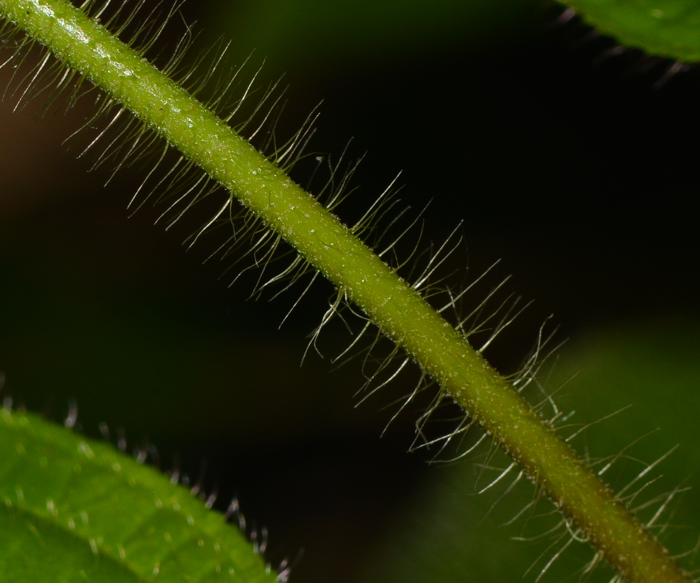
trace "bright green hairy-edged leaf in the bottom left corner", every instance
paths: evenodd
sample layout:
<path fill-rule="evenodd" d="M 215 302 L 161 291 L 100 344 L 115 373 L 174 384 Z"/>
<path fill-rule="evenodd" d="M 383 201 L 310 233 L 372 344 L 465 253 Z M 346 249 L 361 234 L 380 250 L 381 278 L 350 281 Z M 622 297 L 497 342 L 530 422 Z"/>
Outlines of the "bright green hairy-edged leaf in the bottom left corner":
<path fill-rule="evenodd" d="M 0 581 L 272 582 L 238 528 L 152 467 L 0 415 Z"/>

